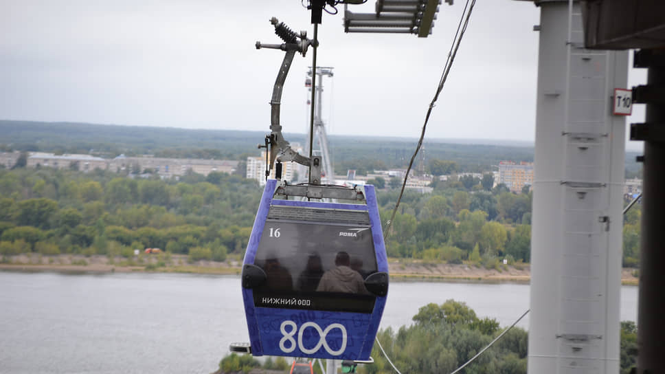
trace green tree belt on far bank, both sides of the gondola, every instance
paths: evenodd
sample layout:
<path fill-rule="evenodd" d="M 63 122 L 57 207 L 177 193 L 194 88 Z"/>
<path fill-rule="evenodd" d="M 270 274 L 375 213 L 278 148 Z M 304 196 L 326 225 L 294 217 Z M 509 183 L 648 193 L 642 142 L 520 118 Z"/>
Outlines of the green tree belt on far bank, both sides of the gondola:
<path fill-rule="evenodd" d="M 488 178 L 487 178 L 488 177 Z M 377 196 L 387 228 L 398 187 Z M 514 194 L 491 175 L 407 190 L 387 236 L 387 254 L 499 269 L 530 261 L 531 193 Z M 395 187 L 395 188 L 394 188 Z M 241 259 L 262 189 L 224 173 L 180 180 L 131 179 L 95 170 L 0 169 L 0 254 L 110 254 L 161 248 L 192 260 Z M 624 217 L 624 265 L 639 262 L 640 206 Z"/>

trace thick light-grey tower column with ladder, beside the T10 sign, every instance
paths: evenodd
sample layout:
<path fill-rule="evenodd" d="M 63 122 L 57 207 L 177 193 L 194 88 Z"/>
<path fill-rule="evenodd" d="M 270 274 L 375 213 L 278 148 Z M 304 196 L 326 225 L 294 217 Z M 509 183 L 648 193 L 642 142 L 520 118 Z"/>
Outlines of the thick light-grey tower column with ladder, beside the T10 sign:
<path fill-rule="evenodd" d="M 528 372 L 617 373 L 628 56 L 581 47 L 577 1 L 538 3 Z"/>

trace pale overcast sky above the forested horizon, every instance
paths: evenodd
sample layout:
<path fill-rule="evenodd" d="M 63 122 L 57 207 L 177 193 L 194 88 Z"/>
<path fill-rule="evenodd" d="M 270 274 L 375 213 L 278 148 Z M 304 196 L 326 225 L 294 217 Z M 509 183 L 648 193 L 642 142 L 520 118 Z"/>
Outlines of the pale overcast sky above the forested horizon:
<path fill-rule="evenodd" d="M 427 38 L 345 34 L 341 12 L 324 14 L 328 133 L 418 137 L 463 8 L 440 5 Z M 281 42 L 271 17 L 313 36 L 300 0 L 0 0 L 0 10 L 0 119 L 12 120 L 269 131 L 284 52 L 254 44 Z M 427 137 L 533 141 L 538 23 L 532 3 L 477 1 Z M 286 80 L 285 132 L 306 131 L 311 57 L 296 56 Z M 630 83 L 645 76 L 632 71 Z M 633 113 L 628 122 L 643 120 Z"/>

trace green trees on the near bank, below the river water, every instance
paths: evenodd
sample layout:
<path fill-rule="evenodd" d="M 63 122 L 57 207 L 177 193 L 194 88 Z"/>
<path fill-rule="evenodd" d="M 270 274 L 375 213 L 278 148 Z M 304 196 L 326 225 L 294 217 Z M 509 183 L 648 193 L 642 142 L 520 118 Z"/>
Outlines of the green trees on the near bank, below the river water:
<path fill-rule="evenodd" d="M 452 373 L 504 331 L 493 318 L 478 318 L 465 303 L 447 300 L 441 305 L 430 303 L 421 307 L 410 326 L 397 331 L 379 331 L 377 340 L 401 373 Z M 621 322 L 620 370 L 630 373 L 637 358 L 637 329 L 635 322 Z M 492 347 L 464 368 L 463 373 L 526 373 L 528 333 L 513 327 Z M 395 373 L 390 363 L 374 344 L 374 364 L 361 365 L 359 373 Z M 289 359 L 291 360 L 291 359 Z M 218 373 L 249 372 L 253 368 L 284 370 L 284 358 L 267 360 L 263 366 L 250 355 L 227 355 L 219 364 Z M 313 365 L 317 371 L 318 365 Z"/>

